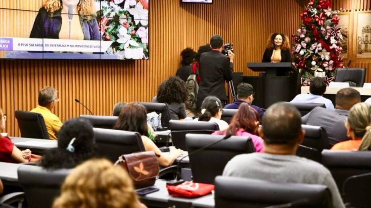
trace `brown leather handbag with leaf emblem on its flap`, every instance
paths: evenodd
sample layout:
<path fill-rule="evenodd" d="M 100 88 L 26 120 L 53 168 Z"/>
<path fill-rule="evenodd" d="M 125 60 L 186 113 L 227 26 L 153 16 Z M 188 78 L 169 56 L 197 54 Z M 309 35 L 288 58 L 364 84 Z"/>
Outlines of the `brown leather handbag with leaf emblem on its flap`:
<path fill-rule="evenodd" d="M 115 163 L 118 164 L 129 173 L 136 189 L 152 186 L 159 173 L 157 157 L 153 151 L 121 155 Z"/>

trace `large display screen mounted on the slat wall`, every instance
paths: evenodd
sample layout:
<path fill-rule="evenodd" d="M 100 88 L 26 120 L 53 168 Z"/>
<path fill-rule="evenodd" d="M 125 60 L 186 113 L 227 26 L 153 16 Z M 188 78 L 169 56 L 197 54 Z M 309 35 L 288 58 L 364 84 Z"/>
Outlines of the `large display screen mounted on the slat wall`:
<path fill-rule="evenodd" d="M 149 0 L 0 0 L 2 59 L 148 59 Z"/>

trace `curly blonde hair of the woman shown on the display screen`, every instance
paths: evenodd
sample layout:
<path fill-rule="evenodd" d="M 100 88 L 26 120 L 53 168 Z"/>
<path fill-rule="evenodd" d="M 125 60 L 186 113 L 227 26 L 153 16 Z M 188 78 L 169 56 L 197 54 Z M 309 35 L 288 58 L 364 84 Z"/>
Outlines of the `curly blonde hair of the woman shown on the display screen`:
<path fill-rule="evenodd" d="M 55 12 L 63 8 L 61 0 L 43 0 L 43 7 L 48 12 Z M 77 11 L 82 16 L 82 18 L 91 20 L 92 16 L 95 16 L 95 3 L 94 0 L 80 0 L 77 4 Z"/>

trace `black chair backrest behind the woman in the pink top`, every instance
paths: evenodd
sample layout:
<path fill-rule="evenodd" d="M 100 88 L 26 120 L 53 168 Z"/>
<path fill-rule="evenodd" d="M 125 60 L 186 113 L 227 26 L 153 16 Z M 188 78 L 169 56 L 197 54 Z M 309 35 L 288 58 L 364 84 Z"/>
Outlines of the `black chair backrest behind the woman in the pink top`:
<path fill-rule="evenodd" d="M 234 156 L 255 152 L 251 138 L 236 136 L 195 152 L 208 144 L 223 139 L 223 137 L 225 136 L 185 135 L 193 181 L 214 183 L 215 176 L 223 174 L 224 167 Z M 195 153 L 192 154 L 193 152 Z"/>

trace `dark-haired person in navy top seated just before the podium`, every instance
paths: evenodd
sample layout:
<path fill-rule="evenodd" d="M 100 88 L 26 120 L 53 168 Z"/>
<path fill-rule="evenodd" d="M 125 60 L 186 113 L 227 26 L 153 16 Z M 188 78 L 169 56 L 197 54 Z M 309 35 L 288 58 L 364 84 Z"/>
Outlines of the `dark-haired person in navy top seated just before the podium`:
<path fill-rule="evenodd" d="M 262 119 L 264 111 L 262 110 L 262 108 L 252 104 L 252 102 L 254 101 L 254 94 L 255 92 L 252 85 L 242 82 L 237 86 L 237 100 L 233 104 L 227 104 L 224 109 L 238 109 L 240 104 L 247 103 L 256 111 L 258 111 L 259 117 L 260 119 Z"/>

